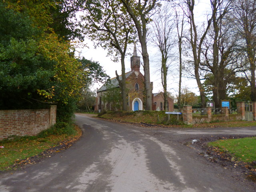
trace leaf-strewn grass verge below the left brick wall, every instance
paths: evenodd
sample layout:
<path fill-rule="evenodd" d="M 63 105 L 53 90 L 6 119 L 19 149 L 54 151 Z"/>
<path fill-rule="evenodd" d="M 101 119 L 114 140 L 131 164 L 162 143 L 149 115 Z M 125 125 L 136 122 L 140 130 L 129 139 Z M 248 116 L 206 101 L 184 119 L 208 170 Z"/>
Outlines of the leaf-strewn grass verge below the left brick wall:
<path fill-rule="evenodd" d="M 52 134 L 50 130 L 48 131 L 50 134 L 43 131 L 43 134 L 41 132 L 38 136 L 13 137 L 12 140 L 0 141 L 0 146 L 4 146 L 4 148 L 0 148 L 0 170 L 10 170 L 14 164 L 58 146 L 63 141 L 78 139 L 82 134 L 80 128 L 74 126 L 72 129 L 71 133 Z"/>

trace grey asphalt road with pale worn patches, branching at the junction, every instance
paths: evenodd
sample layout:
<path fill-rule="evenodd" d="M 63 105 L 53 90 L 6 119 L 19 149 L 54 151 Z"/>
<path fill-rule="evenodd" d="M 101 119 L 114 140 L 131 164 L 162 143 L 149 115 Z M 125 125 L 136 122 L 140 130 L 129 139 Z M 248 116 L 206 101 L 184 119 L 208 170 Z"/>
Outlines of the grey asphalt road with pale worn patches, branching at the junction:
<path fill-rule="evenodd" d="M 76 115 L 83 136 L 38 164 L 0 174 L 0 192 L 248 192 L 234 168 L 184 145 L 212 135 L 256 135 L 256 128 L 168 130 Z"/>

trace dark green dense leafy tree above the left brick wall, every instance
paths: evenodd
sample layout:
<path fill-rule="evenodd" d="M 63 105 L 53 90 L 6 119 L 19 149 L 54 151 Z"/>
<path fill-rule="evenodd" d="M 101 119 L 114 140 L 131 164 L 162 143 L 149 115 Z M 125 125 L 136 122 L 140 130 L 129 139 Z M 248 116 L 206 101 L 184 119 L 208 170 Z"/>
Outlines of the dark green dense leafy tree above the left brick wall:
<path fill-rule="evenodd" d="M 52 88 L 48 80 L 54 76 L 54 67 L 38 54 L 41 31 L 26 15 L 6 6 L 0 3 L 0 90 L 5 93 L 0 95 L 0 108 L 36 108 L 31 104 L 40 100 L 41 106 L 45 100 L 37 89 Z"/>

